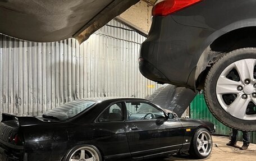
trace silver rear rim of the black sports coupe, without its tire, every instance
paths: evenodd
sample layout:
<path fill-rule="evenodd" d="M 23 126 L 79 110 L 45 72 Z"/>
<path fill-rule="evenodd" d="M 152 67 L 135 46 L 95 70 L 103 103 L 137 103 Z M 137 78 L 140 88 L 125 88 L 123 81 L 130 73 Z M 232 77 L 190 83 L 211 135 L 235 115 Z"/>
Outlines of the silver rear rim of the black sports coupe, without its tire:
<path fill-rule="evenodd" d="M 72 153 L 69 161 L 99 161 L 99 155 L 95 149 L 83 146 Z"/>

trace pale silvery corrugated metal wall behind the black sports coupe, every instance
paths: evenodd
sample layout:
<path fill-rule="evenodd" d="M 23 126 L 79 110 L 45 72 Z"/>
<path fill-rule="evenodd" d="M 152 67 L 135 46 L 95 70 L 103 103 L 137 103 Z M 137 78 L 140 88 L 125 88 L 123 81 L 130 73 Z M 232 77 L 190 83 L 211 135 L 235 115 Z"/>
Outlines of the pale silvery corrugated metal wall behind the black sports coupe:
<path fill-rule="evenodd" d="M 145 37 L 112 20 L 79 45 L 0 35 L 0 109 L 38 115 L 77 98 L 147 98 L 159 85 L 138 70 Z"/>

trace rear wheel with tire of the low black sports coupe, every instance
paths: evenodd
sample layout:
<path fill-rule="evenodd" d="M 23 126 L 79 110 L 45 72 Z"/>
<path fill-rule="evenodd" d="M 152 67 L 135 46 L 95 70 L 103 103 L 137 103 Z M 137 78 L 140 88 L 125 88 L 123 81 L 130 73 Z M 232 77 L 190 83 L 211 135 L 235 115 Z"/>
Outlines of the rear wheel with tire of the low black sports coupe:
<path fill-rule="evenodd" d="M 67 154 L 66 161 L 102 161 L 100 152 L 95 146 L 77 146 Z"/>

